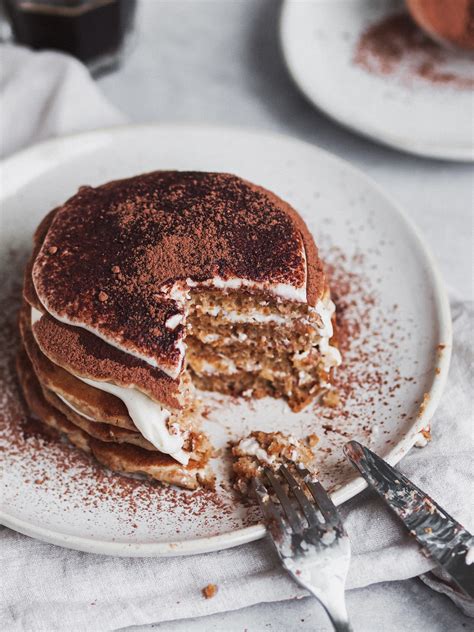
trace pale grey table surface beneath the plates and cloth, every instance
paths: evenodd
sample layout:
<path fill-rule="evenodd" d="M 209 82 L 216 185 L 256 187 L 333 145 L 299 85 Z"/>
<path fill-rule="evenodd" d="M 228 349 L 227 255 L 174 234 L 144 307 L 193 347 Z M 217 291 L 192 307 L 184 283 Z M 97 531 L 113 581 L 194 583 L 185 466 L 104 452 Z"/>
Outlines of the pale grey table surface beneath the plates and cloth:
<path fill-rule="evenodd" d="M 132 122 L 246 126 L 299 137 L 338 154 L 398 200 L 421 228 L 450 291 L 472 298 L 473 167 L 385 148 L 318 112 L 284 67 L 279 10 L 277 0 L 142 0 L 129 53 L 117 72 L 98 79 L 100 87 Z M 352 591 L 348 608 L 356 630 L 472 629 L 472 620 L 419 580 Z M 309 599 L 153 627 L 330 629 Z M 139 629 L 145 628 L 134 628 Z"/>

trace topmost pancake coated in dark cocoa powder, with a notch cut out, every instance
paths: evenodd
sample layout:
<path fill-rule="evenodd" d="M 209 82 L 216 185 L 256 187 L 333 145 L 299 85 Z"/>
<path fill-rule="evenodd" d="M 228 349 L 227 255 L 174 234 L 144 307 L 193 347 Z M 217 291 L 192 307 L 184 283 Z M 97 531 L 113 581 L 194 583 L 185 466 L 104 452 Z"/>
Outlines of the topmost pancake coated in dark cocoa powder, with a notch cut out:
<path fill-rule="evenodd" d="M 283 284 L 310 305 L 324 287 L 314 241 L 288 204 L 236 176 L 177 171 L 82 187 L 52 218 L 32 278 L 52 316 L 172 377 L 184 322 L 166 323 L 183 313 L 187 280 Z"/>

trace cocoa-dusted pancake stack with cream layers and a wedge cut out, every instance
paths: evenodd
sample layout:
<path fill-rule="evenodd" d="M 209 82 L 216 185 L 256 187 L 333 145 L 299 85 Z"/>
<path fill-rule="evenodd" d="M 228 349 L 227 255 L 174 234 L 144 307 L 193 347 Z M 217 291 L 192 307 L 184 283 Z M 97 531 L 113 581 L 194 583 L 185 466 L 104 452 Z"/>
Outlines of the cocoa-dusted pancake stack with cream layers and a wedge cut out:
<path fill-rule="evenodd" d="M 155 172 L 82 187 L 40 224 L 18 374 L 33 414 L 109 468 L 211 486 L 194 385 L 299 410 L 340 363 L 333 316 L 288 204 L 228 174 Z"/>

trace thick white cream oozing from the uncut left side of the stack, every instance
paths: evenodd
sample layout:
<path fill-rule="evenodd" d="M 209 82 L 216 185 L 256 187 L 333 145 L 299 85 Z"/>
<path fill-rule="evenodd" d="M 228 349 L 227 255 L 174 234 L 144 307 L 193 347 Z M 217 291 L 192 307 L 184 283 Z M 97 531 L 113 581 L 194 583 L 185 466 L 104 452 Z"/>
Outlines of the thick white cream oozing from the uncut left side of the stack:
<path fill-rule="evenodd" d="M 41 312 L 34 307 L 31 308 L 32 324 L 36 323 L 41 316 Z M 184 452 L 182 449 L 184 439 L 180 434 L 171 434 L 166 423 L 170 416 L 169 410 L 163 408 L 160 404 L 154 402 L 136 388 L 126 388 L 123 386 L 117 386 L 116 384 L 111 384 L 110 382 L 90 380 L 79 375 L 75 375 L 75 377 L 89 386 L 98 388 L 106 393 L 111 393 L 121 399 L 125 404 L 133 423 L 142 436 L 145 437 L 145 439 L 148 439 L 148 441 L 160 452 L 169 454 L 176 459 L 176 461 L 179 461 L 179 463 L 187 465 L 189 461 L 189 454 Z M 65 403 L 71 406 L 69 402 Z M 83 413 L 79 411 L 76 412 L 83 415 Z M 85 417 L 86 415 L 83 416 Z M 89 417 L 88 419 L 91 418 Z"/>

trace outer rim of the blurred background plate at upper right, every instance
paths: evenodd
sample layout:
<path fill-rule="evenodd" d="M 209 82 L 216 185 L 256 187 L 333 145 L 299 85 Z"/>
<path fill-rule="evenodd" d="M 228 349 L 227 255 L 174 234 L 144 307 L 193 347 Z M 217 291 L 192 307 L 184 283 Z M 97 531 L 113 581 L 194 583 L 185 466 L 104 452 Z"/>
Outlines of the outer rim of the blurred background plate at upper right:
<path fill-rule="evenodd" d="M 334 100 L 327 99 L 323 91 L 314 87 L 314 83 L 308 80 L 305 73 L 300 71 L 292 52 L 292 33 L 289 31 L 289 16 L 295 4 L 300 4 L 298 0 L 284 0 L 280 11 L 279 20 L 279 38 L 283 59 L 286 68 L 291 75 L 293 81 L 303 95 L 319 110 L 324 112 L 333 121 L 343 125 L 352 132 L 361 134 L 377 143 L 382 143 L 394 149 L 398 149 L 409 154 L 422 156 L 424 158 L 434 158 L 436 160 L 451 160 L 455 162 L 474 162 L 474 149 L 472 147 L 464 147 L 461 145 L 447 145 L 417 142 L 415 138 L 404 137 L 401 135 L 390 134 L 385 131 L 381 134 L 379 129 L 371 125 L 368 119 L 355 119 L 349 117 L 344 107 L 338 107 L 338 103 Z M 342 102 L 341 102 L 342 103 Z"/>

